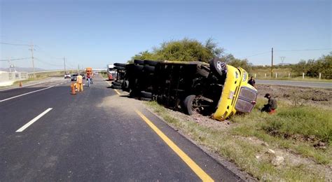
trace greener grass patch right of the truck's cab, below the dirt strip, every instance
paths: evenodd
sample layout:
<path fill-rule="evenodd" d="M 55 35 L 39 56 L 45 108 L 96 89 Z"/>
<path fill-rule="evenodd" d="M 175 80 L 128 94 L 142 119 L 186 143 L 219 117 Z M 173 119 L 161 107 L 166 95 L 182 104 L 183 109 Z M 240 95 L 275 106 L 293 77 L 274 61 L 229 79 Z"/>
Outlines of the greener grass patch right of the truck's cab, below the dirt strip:
<path fill-rule="evenodd" d="M 304 157 L 312 158 L 319 164 L 332 162 L 332 113 L 311 106 L 290 106 L 279 102 L 277 114 L 261 113 L 263 105 L 258 99 L 254 111 L 231 120 L 237 123 L 231 132 L 244 137 L 257 137 L 278 148 L 291 149 Z M 326 150 L 317 150 L 319 141 L 327 145 Z"/>

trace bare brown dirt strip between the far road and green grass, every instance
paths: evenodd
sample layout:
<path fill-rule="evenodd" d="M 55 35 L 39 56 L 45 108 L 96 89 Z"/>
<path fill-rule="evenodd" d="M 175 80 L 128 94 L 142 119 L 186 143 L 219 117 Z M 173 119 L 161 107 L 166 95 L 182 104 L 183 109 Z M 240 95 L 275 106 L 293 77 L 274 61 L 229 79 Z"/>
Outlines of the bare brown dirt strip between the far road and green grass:
<path fill-rule="evenodd" d="M 303 104 L 321 106 L 331 109 L 332 89 L 293 87 L 284 85 L 257 85 L 258 97 L 264 97 L 265 93 L 271 94 L 276 99 L 282 99 L 291 104 Z"/>

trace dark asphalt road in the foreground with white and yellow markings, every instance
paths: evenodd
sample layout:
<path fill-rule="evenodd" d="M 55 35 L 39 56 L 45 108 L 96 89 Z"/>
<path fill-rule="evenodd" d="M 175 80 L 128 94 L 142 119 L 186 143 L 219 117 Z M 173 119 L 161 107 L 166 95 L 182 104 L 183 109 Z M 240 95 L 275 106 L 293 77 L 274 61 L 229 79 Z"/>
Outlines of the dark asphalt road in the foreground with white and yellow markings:
<path fill-rule="evenodd" d="M 0 92 L 0 181 L 240 180 L 102 78 L 49 84 Z"/>

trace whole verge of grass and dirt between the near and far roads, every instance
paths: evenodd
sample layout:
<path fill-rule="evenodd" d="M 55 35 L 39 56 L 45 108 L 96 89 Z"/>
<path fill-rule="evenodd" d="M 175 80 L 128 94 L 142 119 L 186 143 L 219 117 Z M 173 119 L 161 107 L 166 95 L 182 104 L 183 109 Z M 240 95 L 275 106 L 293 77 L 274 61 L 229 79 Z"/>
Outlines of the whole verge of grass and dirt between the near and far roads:
<path fill-rule="evenodd" d="M 254 111 L 226 122 L 186 116 L 155 102 L 148 108 L 201 146 L 258 180 L 332 180 L 332 90 L 258 85 Z M 261 113 L 262 95 L 277 97 L 275 115 Z"/>

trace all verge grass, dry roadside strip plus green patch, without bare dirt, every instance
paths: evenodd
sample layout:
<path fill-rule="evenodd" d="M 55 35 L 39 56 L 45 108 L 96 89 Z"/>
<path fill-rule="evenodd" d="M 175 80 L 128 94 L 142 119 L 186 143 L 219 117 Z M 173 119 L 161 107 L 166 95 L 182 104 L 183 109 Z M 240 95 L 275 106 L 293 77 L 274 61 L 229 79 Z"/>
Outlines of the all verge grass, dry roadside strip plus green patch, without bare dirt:
<path fill-rule="evenodd" d="M 258 180 L 324 181 L 325 174 L 319 169 L 312 169 L 305 165 L 294 165 L 287 160 L 285 160 L 282 167 L 275 167 L 271 164 L 270 158 L 258 160 L 256 155 L 265 153 L 267 148 L 286 148 L 293 153 L 298 153 L 303 158 L 316 161 L 317 164 L 331 164 L 331 145 L 326 150 L 317 150 L 311 142 L 284 137 L 284 134 L 296 134 L 296 136 L 301 137 L 313 135 L 315 141 L 321 140 L 329 143 L 332 130 L 331 113 L 310 107 L 293 108 L 284 103 L 279 103 L 277 114 L 271 116 L 258 110 L 263 102 L 264 100 L 258 100 L 258 104 L 252 113 L 233 117 L 232 121 L 235 124 L 229 130 L 216 130 L 191 120 L 175 118 L 167 109 L 156 102 L 148 102 L 147 106 L 167 123 L 183 131 L 198 144 L 228 158 L 237 167 Z M 306 118 L 306 120 L 301 120 L 303 118 Z M 299 121 L 302 122 L 299 123 Z M 271 130 L 275 132 L 272 133 Z M 269 146 L 250 142 L 249 138 L 256 138 Z"/>

